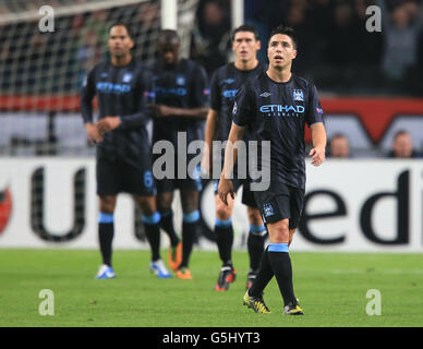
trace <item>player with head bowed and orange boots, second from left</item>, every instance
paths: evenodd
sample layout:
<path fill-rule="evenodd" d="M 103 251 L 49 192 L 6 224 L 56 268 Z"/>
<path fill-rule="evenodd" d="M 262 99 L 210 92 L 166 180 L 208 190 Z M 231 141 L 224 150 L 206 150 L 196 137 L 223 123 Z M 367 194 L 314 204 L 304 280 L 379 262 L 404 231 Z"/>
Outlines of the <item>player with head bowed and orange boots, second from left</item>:
<path fill-rule="evenodd" d="M 164 29 L 158 37 L 158 60 L 153 64 L 156 103 L 154 143 L 165 141 L 174 149 L 172 178 L 157 180 L 157 206 L 161 215 L 161 228 L 170 238 L 169 266 L 180 279 L 191 279 L 190 256 L 200 228 L 198 197 L 202 191 L 200 166 L 188 172 L 188 164 L 195 154 L 186 154 L 179 147 L 182 136 L 186 145 L 204 139 L 204 121 L 208 111 L 208 77 L 203 67 L 180 57 L 181 39 L 176 31 Z M 155 158 L 161 154 L 155 154 Z M 184 164 L 180 164 L 183 161 Z M 180 176 L 182 165 L 188 170 Z M 183 170 L 183 168 L 182 168 Z M 173 227 L 172 202 L 180 190 L 182 204 L 182 244 Z"/>

